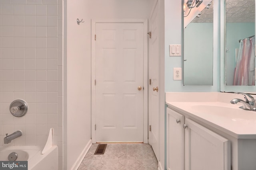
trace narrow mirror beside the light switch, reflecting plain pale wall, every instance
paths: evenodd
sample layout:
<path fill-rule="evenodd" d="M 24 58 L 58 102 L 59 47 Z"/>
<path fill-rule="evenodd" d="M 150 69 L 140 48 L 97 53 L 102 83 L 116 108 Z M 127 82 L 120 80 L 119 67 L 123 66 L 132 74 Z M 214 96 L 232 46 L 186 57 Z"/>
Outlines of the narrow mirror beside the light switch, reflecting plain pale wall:
<path fill-rule="evenodd" d="M 184 2 L 183 84 L 212 86 L 213 1 Z"/>

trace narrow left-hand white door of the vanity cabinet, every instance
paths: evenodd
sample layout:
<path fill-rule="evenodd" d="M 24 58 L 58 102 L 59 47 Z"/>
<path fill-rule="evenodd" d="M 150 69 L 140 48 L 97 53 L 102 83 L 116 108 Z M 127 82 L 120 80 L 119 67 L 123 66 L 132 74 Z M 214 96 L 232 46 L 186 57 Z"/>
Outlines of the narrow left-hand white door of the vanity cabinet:
<path fill-rule="evenodd" d="M 167 170 L 184 170 L 184 115 L 167 108 Z"/>

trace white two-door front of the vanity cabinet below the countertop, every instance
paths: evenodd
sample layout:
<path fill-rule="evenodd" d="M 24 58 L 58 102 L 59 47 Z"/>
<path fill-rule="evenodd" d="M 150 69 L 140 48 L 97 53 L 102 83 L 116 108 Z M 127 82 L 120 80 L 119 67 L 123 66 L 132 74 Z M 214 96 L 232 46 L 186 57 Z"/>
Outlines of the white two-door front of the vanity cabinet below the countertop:
<path fill-rule="evenodd" d="M 167 108 L 168 170 L 231 170 L 230 141 Z"/>

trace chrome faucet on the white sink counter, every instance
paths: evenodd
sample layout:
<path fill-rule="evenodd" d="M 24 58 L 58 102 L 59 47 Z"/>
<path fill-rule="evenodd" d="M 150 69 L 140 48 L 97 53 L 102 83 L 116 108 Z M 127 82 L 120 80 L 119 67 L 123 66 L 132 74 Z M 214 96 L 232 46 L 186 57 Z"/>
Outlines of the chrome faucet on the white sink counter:
<path fill-rule="evenodd" d="M 230 101 L 231 104 L 237 104 L 238 102 L 240 102 L 243 105 L 240 108 L 245 110 L 256 111 L 256 102 L 254 97 L 252 97 L 250 94 L 242 93 L 242 92 L 236 92 L 236 94 L 242 94 L 244 96 L 245 101 L 242 99 L 233 99 Z"/>

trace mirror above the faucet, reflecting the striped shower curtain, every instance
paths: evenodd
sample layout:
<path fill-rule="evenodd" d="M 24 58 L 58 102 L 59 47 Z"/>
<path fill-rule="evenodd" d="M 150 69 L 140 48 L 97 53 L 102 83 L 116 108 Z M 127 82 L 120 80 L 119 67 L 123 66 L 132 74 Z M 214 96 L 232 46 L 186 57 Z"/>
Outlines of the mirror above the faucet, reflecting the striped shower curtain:
<path fill-rule="evenodd" d="M 255 86 L 255 0 L 226 0 L 225 85 Z"/>

